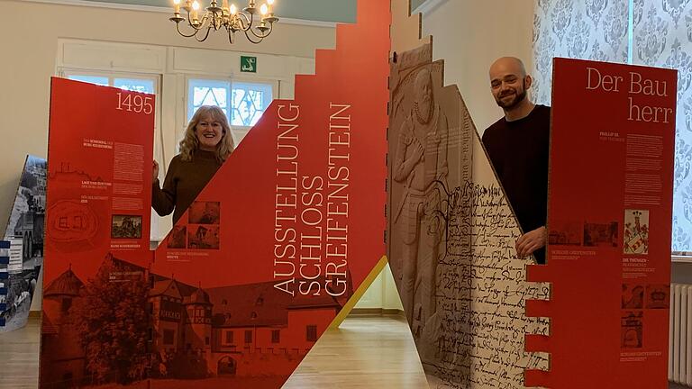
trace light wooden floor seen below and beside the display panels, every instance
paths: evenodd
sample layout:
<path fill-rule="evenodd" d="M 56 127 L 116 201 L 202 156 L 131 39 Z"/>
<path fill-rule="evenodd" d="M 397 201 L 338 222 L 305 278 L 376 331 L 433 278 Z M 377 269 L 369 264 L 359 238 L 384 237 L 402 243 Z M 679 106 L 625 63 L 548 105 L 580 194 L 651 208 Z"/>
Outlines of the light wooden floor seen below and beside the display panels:
<path fill-rule="evenodd" d="M 39 320 L 0 335 L 0 389 L 35 389 Z M 427 389 L 414 340 L 403 316 L 351 316 L 328 330 L 285 389 Z"/>

